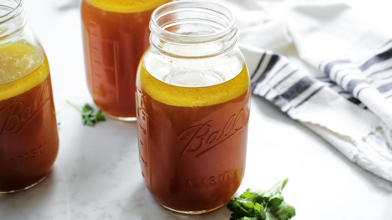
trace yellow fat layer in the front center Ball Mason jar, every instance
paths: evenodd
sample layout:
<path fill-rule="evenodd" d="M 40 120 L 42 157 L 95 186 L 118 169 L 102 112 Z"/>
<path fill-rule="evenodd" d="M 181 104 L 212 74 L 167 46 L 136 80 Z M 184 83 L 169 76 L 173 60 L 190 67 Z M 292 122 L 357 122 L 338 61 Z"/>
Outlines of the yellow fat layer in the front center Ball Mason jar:
<path fill-rule="evenodd" d="M 246 66 L 237 77 L 222 84 L 206 87 L 180 87 L 162 82 L 141 67 L 140 86 L 155 100 L 175 106 L 207 106 L 223 103 L 242 95 L 249 88 Z"/>

